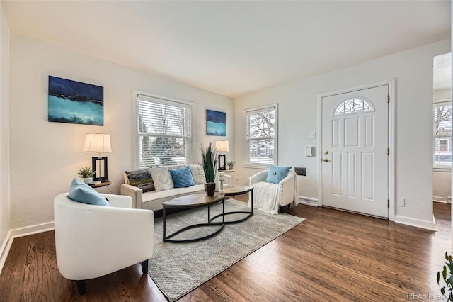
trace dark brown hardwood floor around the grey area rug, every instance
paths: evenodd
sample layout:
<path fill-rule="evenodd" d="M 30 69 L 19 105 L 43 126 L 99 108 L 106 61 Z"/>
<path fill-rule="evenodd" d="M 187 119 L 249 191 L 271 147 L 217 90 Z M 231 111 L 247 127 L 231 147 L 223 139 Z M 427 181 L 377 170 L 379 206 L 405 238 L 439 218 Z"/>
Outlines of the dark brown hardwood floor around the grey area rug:
<path fill-rule="evenodd" d="M 451 247 L 449 204 L 435 203 L 437 232 L 331 208 L 299 205 L 288 213 L 306 221 L 180 301 L 437 300 L 436 274 Z M 50 231 L 13 241 L 0 301 L 166 301 L 139 264 L 86 287 L 79 296 L 59 274 Z"/>

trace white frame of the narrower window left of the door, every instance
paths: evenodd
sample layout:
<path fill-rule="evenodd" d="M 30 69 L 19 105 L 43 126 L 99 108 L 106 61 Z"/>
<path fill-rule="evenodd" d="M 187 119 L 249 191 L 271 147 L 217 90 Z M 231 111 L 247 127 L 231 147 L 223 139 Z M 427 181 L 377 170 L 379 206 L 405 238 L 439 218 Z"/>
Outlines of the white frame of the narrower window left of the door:
<path fill-rule="evenodd" d="M 262 136 L 250 138 L 250 128 L 248 127 L 248 118 L 253 113 L 260 113 L 264 111 L 274 111 L 275 112 L 275 131 L 273 136 Z M 254 169 L 268 169 L 270 164 L 278 164 L 278 104 L 272 104 L 268 106 L 262 106 L 257 108 L 249 108 L 243 111 L 244 118 L 244 164 L 243 167 L 254 168 Z M 270 163 L 256 163 L 250 161 L 250 140 L 256 139 L 273 139 L 274 140 L 274 160 Z M 256 152 L 261 152 L 260 147 L 257 147 Z"/>

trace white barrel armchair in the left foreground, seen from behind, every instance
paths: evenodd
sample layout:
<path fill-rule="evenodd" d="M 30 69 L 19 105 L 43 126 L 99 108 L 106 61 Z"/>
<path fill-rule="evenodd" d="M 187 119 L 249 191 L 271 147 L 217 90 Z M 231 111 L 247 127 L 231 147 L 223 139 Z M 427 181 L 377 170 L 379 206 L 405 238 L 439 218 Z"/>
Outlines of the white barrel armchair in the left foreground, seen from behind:
<path fill-rule="evenodd" d="M 153 255 L 154 213 L 131 208 L 130 196 L 102 194 L 110 206 L 93 206 L 59 194 L 54 199 L 57 267 L 86 293 L 85 280 L 142 262 Z"/>

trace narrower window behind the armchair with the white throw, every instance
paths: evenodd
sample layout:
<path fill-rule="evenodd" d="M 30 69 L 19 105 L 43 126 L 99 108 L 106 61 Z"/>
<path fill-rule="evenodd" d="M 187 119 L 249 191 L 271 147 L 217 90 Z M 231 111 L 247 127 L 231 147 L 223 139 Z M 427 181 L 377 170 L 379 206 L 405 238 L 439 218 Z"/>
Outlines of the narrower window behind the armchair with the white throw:
<path fill-rule="evenodd" d="M 277 164 L 277 105 L 244 111 L 246 164 Z"/>

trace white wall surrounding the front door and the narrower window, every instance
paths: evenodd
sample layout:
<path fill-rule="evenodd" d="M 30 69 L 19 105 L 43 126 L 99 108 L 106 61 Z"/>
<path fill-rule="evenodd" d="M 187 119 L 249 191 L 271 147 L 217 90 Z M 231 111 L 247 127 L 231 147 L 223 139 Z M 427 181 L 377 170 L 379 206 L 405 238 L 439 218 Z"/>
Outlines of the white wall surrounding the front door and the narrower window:
<path fill-rule="evenodd" d="M 298 177 L 299 196 L 318 198 L 318 161 L 305 157 L 307 138 L 317 131 L 318 94 L 364 84 L 396 79 L 396 197 L 406 198 L 396 207 L 395 220 L 432 228 L 432 64 L 433 57 L 450 51 L 450 41 L 425 45 L 360 65 L 241 96 L 235 100 L 236 160 L 244 162 L 243 110 L 279 104 L 278 164 L 306 167 Z M 256 170 L 238 165 L 237 177 Z"/>

